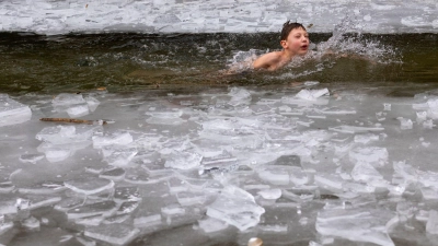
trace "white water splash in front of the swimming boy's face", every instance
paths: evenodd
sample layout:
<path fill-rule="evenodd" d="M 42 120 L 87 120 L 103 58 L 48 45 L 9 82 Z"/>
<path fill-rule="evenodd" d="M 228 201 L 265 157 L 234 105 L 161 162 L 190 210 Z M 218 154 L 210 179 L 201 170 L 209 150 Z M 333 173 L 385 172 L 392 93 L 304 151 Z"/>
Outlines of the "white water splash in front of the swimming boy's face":
<path fill-rule="evenodd" d="M 265 79 L 300 79 L 327 72 L 335 66 L 348 63 L 362 63 L 366 67 L 401 62 L 402 59 L 396 49 L 382 44 L 379 39 L 372 39 L 364 34 L 362 30 L 364 25 L 356 16 L 346 15 L 335 25 L 327 40 L 311 43 L 311 49 L 306 56 L 293 58 L 281 71 L 274 75 L 268 74 Z"/>

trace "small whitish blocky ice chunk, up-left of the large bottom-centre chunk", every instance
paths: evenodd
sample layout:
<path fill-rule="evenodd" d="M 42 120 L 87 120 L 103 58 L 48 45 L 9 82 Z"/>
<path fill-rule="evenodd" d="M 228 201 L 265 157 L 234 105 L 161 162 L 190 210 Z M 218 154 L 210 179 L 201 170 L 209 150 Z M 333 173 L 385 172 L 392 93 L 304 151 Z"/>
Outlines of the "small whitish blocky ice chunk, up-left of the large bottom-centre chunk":
<path fill-rule="evenodd" d="M 191 169 L 199 166 L 203 156 L 197 153 L 186 151 L 173 151 L 165 155 L 165 167 L 175 169 Z"/>

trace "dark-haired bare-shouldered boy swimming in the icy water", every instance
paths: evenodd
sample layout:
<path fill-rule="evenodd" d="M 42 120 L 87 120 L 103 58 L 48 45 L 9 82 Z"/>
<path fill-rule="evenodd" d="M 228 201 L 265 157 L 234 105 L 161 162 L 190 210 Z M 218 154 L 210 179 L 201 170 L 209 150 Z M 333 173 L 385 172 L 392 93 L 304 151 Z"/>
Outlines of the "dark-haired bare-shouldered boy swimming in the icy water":
<path fill-rule="evenodd" d="M 256 70 L 274 71 L 285 67 L 296 56 L 304 56 L 309 50 L 309 35 L 300 23 L 287 21 L 283 24 L 280 45 L 283 50 L 273 51 L 258 57 L 253 62 Z"/>

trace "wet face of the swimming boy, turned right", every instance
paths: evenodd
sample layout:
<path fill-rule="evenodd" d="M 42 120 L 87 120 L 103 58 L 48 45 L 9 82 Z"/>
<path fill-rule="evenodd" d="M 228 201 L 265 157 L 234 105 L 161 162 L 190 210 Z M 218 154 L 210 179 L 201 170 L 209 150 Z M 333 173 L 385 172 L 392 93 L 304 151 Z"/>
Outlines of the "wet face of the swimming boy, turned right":
<path fill-rule="evenodd" d="M 290 31 L 286 40 L 281 40 L 284 49 L 289 50 L 293 56 L 303 56 L 309 50 L 309 35 L 306 30 L 299 27 Z"/>

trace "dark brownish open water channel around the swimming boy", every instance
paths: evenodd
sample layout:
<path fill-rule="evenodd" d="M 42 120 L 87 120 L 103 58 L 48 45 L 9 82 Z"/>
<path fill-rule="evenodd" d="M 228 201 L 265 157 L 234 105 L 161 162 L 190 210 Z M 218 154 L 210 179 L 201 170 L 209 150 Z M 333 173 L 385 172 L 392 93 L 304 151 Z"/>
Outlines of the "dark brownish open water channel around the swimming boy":
<path fill-rule="evenodd" d="M 330 43 L 331 37 L 310 32 L 316 46 Z M 343 34 L 328 45 L 336 55 L 269 74 L 223 75 L 220 71 L 239 59 L 278 49 L 278 34 L 1 33 L 0 91 L 51 93 L 105 86 L 120 92 L 319 81 L 332 87 L 390 86 L 396 90 L 385 90 L 385 94 L 405 95 L 438 85 L 438 34 Z"/>

